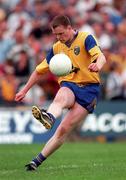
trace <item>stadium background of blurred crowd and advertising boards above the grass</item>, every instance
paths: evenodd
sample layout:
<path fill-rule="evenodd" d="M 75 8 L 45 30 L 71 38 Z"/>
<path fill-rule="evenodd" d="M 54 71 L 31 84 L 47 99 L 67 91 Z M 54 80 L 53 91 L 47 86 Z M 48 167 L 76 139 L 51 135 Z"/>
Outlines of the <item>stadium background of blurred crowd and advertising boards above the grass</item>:
<path fill-rule="evenodd" d="M 59 12 L 70 17 L 75 29 L 93 33 L 107 58 L 98 108 L 72 132 L 70 140 L 125 139 L 126 2 L 1 0 L 0 143 L 45 142 L 55 131 L 56 127 L 46 132 L 36 124 L 31 106 L 48 107 L 58 90 L 56 77 L 45 74 L 21 103 L 15 103 L 14 96 L 55 41 L 49 22 Z"/>

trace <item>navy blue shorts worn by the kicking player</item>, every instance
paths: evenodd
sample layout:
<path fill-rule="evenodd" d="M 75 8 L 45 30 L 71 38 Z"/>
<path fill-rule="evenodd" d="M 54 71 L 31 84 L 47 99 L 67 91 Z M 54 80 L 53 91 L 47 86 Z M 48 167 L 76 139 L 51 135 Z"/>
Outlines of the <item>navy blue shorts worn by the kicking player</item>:
<path fill-rule="evenodd" d="M 100 95 L 101 86 L 99 83 L 83 85 L 63 81 L 61 82 L 61 87 L 68 87 L 71 89 L 75 95 L 76 102 L 84 107 L 89 113 L 94 111 Z"/>

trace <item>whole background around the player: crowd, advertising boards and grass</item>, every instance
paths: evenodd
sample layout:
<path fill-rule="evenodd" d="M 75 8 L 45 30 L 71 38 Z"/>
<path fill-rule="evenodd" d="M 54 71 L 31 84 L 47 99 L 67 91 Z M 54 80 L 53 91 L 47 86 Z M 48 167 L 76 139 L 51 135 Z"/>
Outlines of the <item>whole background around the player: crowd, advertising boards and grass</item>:
<path fill-rule="evenodd" d="M 61 120 L 46 131 L 31 114 L 33 104 L 48 107 L 58 90 L 56 77 L 45 74 L 21 103 L 14 96 L 55 41 L 49 22 L 59 12 L 75 29 L 97 37 L 107 58 L 102 93 L 94 114 L 74 129 L 66 145 L 37 173 L 27 174 L 24 164 Z M 0 179 L 125 180 L 125 100 L 125 0 L 0 0 Z"/>

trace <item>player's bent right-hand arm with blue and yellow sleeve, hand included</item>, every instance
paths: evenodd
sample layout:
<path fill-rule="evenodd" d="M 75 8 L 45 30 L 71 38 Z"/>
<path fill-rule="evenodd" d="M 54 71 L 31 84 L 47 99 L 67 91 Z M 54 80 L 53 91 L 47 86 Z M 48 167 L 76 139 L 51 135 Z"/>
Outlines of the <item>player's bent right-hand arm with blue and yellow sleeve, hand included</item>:
<path fill-rule="evenodd" d="M 92 62 L 88 69 L 93 72 L 98 72 L 106 63 L 106 58 L 101 52 L 96 39 L 92 35 L 88 35 L 85 40 L 85 48 L 92 57 Z"/>

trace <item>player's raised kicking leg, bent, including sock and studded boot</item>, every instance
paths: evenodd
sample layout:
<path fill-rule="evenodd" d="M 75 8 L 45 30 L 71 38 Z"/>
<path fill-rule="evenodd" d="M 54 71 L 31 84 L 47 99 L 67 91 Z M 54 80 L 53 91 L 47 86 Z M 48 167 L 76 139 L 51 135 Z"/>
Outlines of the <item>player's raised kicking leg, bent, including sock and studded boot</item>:
<path fill-rule="evenodd" d="M 33 106 L 32 114 L 40 121 L 47 129 L 52 128 L 55 119 L 62 114 L 64 108 L 73 106 L 75 96 L 73 92 L 67 87 L 61 87 L 56 94 L 52 104 L 49 106 L 48 111 L 41 110 L 37 106 Z"/>

